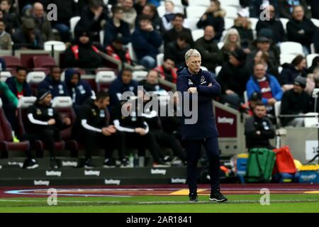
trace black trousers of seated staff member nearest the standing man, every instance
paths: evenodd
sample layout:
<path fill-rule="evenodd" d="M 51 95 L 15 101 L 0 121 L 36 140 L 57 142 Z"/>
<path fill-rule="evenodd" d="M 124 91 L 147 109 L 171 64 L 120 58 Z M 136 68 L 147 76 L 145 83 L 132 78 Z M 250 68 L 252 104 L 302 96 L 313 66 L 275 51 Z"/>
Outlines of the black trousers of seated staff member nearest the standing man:
<path fill-rule="evenodd" d="M 179 143 L 179 140 L 174 135 L 160 130 L 150 131 L 150 133 L 155 136 L 155 140 L 160 146 L 172 149 L 175 156 L 181 158 L 183 162 L 186 161 L 186 155 L 181 147 L 181 143 Z"/>

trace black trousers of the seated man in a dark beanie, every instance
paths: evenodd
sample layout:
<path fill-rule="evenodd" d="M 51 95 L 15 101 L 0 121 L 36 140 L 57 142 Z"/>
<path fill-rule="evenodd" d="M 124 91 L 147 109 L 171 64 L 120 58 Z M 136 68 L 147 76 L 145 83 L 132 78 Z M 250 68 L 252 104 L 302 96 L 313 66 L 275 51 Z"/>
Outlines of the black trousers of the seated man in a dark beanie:
<path fill-rule="evenodd" d="M 43 129 L 35 133 L 26 133 L 22 136 L 21 140 L 30 141 L 30 150 L 26 153 L 28 158 L 34 157 L 32 150 L 34 149 L 35 140 L 42 140 L 45 143 L 47 150 L 49 150 L 50 157 L 55 157 L 55 141 L 60 140 L 60 131 Z"/>

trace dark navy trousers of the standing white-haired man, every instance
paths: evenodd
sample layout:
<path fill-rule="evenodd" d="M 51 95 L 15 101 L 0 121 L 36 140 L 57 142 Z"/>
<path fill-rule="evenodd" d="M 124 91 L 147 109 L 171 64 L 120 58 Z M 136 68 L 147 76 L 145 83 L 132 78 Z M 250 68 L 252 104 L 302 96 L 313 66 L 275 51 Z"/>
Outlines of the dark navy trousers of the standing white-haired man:
<path fill-rule="evenodd" d="M 189 192 L 197 192 L 197 163 L 201 155 L 201 145 L 206 150 L 209 175 L 211 177 L 211 189 L 219 189 L 219 151 L 218 138 L 206 138 L 203 140 L 185 140 L 187 155 L 187 182 L 189 184 Z"/>

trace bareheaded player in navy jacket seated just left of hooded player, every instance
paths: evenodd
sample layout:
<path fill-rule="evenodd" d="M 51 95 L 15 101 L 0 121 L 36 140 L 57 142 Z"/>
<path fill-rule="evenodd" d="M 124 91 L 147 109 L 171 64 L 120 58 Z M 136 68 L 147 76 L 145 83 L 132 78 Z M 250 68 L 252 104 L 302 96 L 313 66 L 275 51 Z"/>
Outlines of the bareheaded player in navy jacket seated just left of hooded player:
<path fill-rule="evenodd" d="M 53 66 L 50 69 L 50 74 L 45 77 L 43 82 L 38 86 L 38 92 L 45 89 L 50 91 L 53 98 L 56 96 L 69 96 L 65 82 L 61 81 L 61 69 L 58 66 Z"/>

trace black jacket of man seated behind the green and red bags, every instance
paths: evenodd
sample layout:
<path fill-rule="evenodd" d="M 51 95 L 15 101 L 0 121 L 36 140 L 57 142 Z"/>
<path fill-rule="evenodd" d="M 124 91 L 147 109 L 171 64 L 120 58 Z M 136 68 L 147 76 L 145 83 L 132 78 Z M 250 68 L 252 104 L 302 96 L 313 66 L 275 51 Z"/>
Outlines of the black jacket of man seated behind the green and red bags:
<path fill-rule="evenodd" d="M 260 135 L 257 135 L 260 131 Z M 247 148 L 269 148 L 269 139 L 274 138 L 275 130 L 272 122 L 267 118 L 251 116 L 245 122 L 245 135 Z"/>

